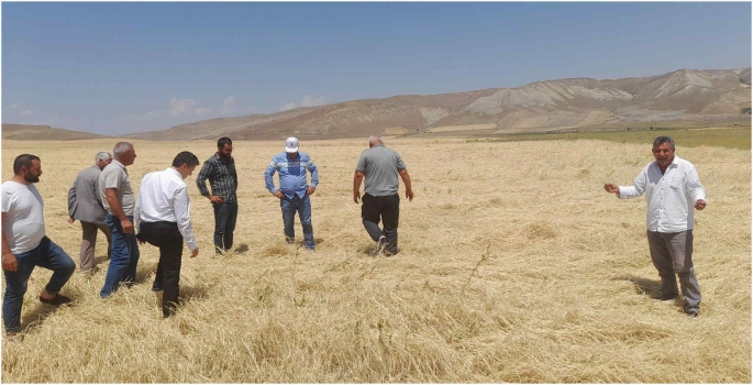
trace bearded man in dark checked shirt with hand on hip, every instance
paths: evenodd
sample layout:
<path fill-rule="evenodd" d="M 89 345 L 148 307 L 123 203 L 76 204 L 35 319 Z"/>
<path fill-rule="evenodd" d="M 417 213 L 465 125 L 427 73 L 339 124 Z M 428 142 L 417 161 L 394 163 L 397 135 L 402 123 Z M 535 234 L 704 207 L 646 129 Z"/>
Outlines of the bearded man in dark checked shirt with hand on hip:
<path fill-rule="evenodd" d="M 223 136 L 217 141 L 217 153 L 204 162 L 196 185 L 201 195 L 207 197 L 214 207 L 214 251 L 221 254 L 233 246 L 233 231 L 237 219 L 237 174 L 233 141 Z M 207 189 L 206 180 L 212 187 L 212 194 Z"/>

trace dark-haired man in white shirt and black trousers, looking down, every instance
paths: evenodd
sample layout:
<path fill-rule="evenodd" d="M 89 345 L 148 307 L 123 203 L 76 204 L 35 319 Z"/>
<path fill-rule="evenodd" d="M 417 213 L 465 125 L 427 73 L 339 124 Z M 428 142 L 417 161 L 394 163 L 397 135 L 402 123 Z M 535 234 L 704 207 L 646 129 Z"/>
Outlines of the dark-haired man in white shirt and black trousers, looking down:
<path fill-rule="evenodd" d="M 184 182 L 199 165 L 199 158 L 184 151 L 173 160 L 173 166 L 146 174 L 139 187 L 135 222 L 136 238 L 159 248 L 159 263 L 152 290 L 163 292 L 162 311 L 165 318 L 175 311 L 180 284 L 180 258 L 186 241 L 191 257 L 199 254 L 190 218 L 188 187 Z"/>

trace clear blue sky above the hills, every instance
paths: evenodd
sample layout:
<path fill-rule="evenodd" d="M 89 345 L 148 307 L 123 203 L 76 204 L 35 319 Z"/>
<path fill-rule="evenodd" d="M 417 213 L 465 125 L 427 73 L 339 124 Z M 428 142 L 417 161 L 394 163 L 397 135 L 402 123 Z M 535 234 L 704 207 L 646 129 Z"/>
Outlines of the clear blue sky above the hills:
<path fill-rule="evenodd" d="M 2 3 L 2 122 L 103 134 L 751 66 L 751 3 Z"/>

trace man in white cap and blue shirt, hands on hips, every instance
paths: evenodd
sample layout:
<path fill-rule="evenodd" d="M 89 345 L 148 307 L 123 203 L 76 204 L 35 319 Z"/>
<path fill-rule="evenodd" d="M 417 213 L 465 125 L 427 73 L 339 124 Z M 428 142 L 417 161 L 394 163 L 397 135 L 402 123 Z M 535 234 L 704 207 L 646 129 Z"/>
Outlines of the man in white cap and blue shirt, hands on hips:
<path fill-rule="evenodd" d="M 307 169 L 311 173 L 311 185 L 306 179 Z M 279 189 L 275 189 L 275 183 L 272 179 L 275 173 L 279 174 Z M 294 221 L 298 211 L 303 228 L 306 249 L 313 250 L 309 196 L 317 190 L 317 185 L 319 185 L 319 170 L 309 154 L 298 152 L 298 139 L 288 138 L 285 141 L 285 152 L 273 156 L 269 167 L 264 173 L 264 179 L 269 193 L 280 200 L 286 242 L 295 242 Z"/>

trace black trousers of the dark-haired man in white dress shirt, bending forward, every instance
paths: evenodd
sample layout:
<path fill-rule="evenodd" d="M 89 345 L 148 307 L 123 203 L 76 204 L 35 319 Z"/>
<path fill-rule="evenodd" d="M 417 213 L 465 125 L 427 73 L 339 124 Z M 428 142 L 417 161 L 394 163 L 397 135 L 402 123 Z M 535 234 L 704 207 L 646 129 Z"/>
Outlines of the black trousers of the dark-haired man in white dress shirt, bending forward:
<path fill-rule="evenodd" d="M 159 263 L 152 290 L 163 292 L 162 314 L 167 318 L 178 305 L 182 235 L 175 222 L 142 222 L 139 238 L 159 248 Z"/>

